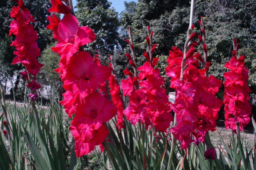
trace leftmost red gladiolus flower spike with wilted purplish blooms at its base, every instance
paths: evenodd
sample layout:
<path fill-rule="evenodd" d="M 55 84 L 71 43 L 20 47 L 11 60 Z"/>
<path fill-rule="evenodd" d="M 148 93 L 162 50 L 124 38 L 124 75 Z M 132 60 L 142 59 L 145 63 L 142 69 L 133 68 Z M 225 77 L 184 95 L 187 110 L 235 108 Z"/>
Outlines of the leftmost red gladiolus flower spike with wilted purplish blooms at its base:
<path fill-rule="evenodd" d="M 18 6 L 13 6 L 10 16 L 15 20 L 11 21 L 9 36 L 11 34 L 16 35 L 15 40 L 11 45 L 14 45 L 17 51 L 14 51 L 16 57 L 12 60 L 12 64 L 21 62 L 29 74 L 32 74 L 34 78 L 26 86 L 29 87 L 33 94 L 29 94 L 32 100 L 35 100 L 37 94 L 36 89 L 41 88 L 41 85 L 35 82 L 35 75 L 38 74 L 41 67 L 44 65 L 39 63 L 37 57 L 40 56 L 40 49 L 35 40 L 38 39 L 37 31 L 33 29 L 33 26 L 29 22 L 35 22 L 34 17 L 30 15 L 30 11 L 24 8 L 23 0 L 14 0 Z M 23 79 L 29 80 L 27 71 L 20 72 Z"/>

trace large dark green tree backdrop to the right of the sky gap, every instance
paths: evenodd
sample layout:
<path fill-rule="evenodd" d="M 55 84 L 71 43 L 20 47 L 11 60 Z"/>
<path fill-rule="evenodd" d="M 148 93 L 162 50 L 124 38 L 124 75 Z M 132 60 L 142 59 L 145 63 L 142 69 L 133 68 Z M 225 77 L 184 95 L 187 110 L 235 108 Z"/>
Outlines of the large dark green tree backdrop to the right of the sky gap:
<path fill-rule="evenodd" d="M 146 30 L 151 26 L 154 31 L 153 42 L 157 44 L 155 54 L 169 55 L 172 46 L 182 49 L 186 31 L 189 26 L 190 1 L 176 0 L 138 0 L 138 3 L 125 3 L 122 12 L 121 24 L 123 30 L 129 27 L 133 33 L 137 55 L 143 54 L 146 49 Z M 233 39 L 240 43 L 239 54 L 246 56 L 245 65 L 250 71 L 249 85 L 252 94 L 256 94 L 255 46 L 256 46 L 256 0 L 196 0 L 194 13 L 194 31 L 201 34 L 198 20 L 204 17 L 208 61 L 211 62 L 209 74 L 219 79 L 226 68 L 224 63 L 231 57 Z M 128 52 L 125 39 L 127 34 L 122 32 L 123 53 Z M 202 52 L 201 46 L 197 46 Z M 164 64 L 164 63 L 162 63 Z M 164 70 L 161 70 L 163 72 Z"/>

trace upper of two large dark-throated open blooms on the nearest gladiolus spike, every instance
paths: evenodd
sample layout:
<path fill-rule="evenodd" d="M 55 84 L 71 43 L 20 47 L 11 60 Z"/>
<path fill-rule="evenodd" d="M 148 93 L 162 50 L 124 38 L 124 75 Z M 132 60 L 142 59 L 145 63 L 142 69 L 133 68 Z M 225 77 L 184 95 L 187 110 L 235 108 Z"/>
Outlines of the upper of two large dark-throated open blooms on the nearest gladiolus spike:
<path fill-rule="evenodd" d="M 97 65 L 86 51 L 74 55 L 72 65 L 67 69 L 63 88 L 68 91 L 80 91 L 81 98 L 96 91 L 98 83 L 105 82 L 111 70 L 105 65 Z"/>

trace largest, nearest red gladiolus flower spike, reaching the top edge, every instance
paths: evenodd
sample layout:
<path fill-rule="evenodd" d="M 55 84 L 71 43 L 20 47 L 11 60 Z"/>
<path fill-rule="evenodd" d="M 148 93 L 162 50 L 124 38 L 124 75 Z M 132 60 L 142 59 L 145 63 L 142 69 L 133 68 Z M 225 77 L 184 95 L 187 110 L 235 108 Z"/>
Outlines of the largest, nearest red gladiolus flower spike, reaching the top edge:
<path fill-rule="evenodd" d="M 51 0 L 49 11 L 64 14 L 62 20 L 55 14 L 48 16 L 53 37 L 58 40 L 52 50 L 61 57 L 59 68 L 64 82 L 64 100 L 61 105 L 69 117 L 75 113 L 71 121 L 70 131 L 74 136 L 76 156 L 90 153 L 96 145 L 104 142 L 108 129 L 104 122 L 116 114 L 116 107 L 99 93 L 99 84 L 104 83 L 111 75 L 111 70 L 104 65 L 93 62 L 93 57 L 80 50 L 81 45 L 93 42 L 96 36 L 92 29 L 80 26 L 68 6 L 61 0 Z M 67 4 L 67 2 L 66 2 Z"/>

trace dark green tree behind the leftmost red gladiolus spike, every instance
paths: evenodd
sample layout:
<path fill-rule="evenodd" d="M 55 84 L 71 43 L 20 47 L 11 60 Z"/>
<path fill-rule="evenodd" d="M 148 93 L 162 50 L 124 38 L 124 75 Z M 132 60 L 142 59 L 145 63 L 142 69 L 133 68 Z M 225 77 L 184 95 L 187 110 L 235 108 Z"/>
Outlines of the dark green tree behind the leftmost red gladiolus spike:
<path fill-rule="evenodd" d="M 13 54 L 15 48 L 10 46 L 10 44 L 15 39 L 15 36 L 8 36 L 10 22 L 13 20 L 9 14 L 9 12 L 12 11 L 12 6 L 17 6 L 17 3 L 13 0 L 0 1 L 0 80 L 4 85 L 8 77 L 7 74 L 9 74 L 10 77 L 13 77 L 15 74 L 17 75 L 22 68 L 24 68 L 21 64 L 12 65 L 12 59 L 15 57 Z M 38 32 L 38 47 L 43 51 L 48 44 L 53 42 L 51 31 L 45 28 L 48 22 L 47 15 L 50 15 L 48 12 L 50 0 L 24 0 L 24 6 L 29 9 L 31 15 L 36 20 L 35 23 L 31 24 Z M 17 82 L 15 82 L 16 92 L 20 84 L 19 82 L 20 79 L 18 78 Z M 18 92 L 17 94 L 22 95 L 23 93 Z"/>

